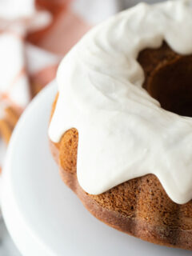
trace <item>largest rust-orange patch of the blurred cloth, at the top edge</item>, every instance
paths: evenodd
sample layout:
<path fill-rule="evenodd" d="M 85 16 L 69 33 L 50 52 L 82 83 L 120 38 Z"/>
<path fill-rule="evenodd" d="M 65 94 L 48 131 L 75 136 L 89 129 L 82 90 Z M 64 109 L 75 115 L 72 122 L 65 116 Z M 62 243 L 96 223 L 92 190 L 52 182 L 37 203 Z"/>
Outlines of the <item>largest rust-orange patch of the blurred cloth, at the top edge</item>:
<path fill-rule="evenodd" d="M 53 22 L 44 30 L 29 34 L 27 40 L 55 54 L 66 54 L 90 29 L 90 25 L 70 10 L 69 0 L 40 0 L 37 4 L 53 14 Z"/>

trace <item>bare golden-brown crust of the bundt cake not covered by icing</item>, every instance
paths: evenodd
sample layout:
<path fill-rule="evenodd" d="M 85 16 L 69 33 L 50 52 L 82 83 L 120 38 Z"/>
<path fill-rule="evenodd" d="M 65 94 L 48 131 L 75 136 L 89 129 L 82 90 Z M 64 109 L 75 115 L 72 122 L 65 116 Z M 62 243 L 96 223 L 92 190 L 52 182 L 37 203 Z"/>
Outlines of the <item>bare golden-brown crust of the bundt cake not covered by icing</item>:
<path fill-rule="evenodd" d="M 161 69 L 170 62 L 178 65 L 181 60 L 185 62 L 186 58 L 175 54 L 166 43 L 158 50 L 142 51 L 138 61 L 146 75 L 144 88 L 147 90 L 153 84 L 153 75 L 158 72 L 161 74 Z M 62 180 L 96 218 L 148 242 L 192 250 L 192 201 L 184 205 L 172 202 L 153 174 L 134 178 L 103 194 L 87 194 L 79 186 L 76 175 L 78 130 L 73 128 L 66 131 L 59 143 L 50 142 L 50 148 L 58 162 Z"/>

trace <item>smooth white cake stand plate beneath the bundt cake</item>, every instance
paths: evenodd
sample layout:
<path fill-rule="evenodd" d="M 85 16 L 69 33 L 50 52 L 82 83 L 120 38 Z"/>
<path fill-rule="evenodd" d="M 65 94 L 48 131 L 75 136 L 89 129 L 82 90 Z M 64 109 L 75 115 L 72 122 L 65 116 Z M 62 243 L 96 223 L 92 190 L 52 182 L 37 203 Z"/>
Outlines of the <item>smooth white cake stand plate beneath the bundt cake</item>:
<path fill-rule="evenodd" d="M 47 126 L 55 94 L 52 82 L 31 102 L 14 130 L 6 158 L 2 210 L 22 255 L 191 255 L 114 230 L 82 206 L 62 182 L 50 154 Z"/>

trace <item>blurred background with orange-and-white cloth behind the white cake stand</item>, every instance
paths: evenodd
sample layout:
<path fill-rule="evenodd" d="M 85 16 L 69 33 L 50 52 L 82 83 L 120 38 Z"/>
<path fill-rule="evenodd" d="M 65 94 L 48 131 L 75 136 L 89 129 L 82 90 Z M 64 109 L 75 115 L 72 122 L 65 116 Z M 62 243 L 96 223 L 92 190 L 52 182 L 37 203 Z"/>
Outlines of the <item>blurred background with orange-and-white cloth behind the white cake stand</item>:
<path fill-rule="evenodd" d="M 61 58 L 91 27 L 138 2 L 0 1 L 0 170 L 3 170 L 6 147 L 19 116 L 30 100 L 55 77 Z M 20 255 L 2 218 L 0 255 Z"/>

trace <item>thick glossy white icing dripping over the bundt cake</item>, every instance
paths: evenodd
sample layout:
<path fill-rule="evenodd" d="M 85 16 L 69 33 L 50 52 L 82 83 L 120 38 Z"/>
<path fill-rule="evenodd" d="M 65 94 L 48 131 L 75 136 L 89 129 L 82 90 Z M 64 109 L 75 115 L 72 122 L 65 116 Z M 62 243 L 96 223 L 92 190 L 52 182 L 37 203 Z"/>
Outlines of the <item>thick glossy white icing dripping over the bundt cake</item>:
<path fill-rule="evenodd" d="M 142 89 L 136 61 L 163 39 L 192 53 L 191 3 L 141 3 L 94 27 L 62 60 L 49 135 L 59 142 L 78 129 L 78 182 L 86 192 L 155 174 L 174 202 L 192 198 L 192 118 L 163 110 Z"/>

